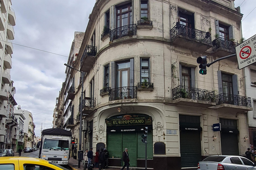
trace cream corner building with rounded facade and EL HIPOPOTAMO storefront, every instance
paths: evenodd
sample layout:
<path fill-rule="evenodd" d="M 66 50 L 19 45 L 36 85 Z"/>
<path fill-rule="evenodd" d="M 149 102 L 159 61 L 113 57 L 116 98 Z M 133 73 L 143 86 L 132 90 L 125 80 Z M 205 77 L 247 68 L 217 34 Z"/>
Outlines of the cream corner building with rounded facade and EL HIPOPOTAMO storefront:
<path fill-rule="evenodd" d="M 252 110 L 244 71 L 235 57 L 207 67 L 206 75 L 196 62 L 235 53 L 243 15 L 234 6 L 231 0 L 96 1 L 79 53 L 68 60 L 86 72 L 83 149 L 106 147 L 109 166 L 121 167 L 129 148 L 130 166 L 145 167 L 147 126 L 148 168 L 195 168 L 209 155 L 244 154 Z M 75 91 L 68 92 L 73 117 L 66 117 L 74 122 L 65 128 L 77 144 L 82 74 L 68 67 L 66 74 Z"/>

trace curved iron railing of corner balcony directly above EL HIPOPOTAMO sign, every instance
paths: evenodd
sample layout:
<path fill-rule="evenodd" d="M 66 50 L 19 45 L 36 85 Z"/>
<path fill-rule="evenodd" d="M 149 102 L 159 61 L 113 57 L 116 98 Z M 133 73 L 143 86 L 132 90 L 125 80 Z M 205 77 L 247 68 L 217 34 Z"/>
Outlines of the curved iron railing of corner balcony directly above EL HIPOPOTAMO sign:
<path fill-rule="evenodd" d="M 137 87 L 127 86 L 109 89 L 109 101 L 119 99 L 134 99 L 137 98 Z"/>

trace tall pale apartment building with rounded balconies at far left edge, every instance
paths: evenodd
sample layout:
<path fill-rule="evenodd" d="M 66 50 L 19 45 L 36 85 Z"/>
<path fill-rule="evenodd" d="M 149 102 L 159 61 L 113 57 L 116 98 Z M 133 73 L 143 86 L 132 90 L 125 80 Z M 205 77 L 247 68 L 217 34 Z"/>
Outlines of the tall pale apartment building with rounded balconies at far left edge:
<path fill-rule="evenodd" d="M 13 26 L 16 18 L 11 0 L 0 1 L 0 148 L 15 148 L 15 117 L 13 107 L 15 88 L 10 77 L 14 39 Z M 17 122 L 16 122 L 17 123 Z"/>

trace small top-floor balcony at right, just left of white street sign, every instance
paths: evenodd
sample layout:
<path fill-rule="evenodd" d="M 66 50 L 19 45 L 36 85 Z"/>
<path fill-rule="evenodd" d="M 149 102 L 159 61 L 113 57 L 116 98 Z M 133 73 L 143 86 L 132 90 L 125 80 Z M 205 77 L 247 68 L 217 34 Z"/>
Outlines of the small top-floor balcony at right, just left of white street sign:
<path fill-rule="evenodd" d="M 236 53 L 236 46 L 238 43 L 224 38 L 217 38 L 212 41 L 213 53 L 220 56 L 227 56 Z"/>

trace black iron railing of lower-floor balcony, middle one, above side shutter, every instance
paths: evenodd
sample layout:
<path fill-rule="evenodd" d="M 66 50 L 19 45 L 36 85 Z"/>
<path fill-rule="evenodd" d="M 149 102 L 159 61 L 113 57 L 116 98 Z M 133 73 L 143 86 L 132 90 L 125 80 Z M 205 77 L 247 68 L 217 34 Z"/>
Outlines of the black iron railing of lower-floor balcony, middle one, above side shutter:
<path fill-rule="evenodd" d="M 214 91 L 178 86 L 172 89 L 173 100 L 178 98 L 215 102 Z"/>

